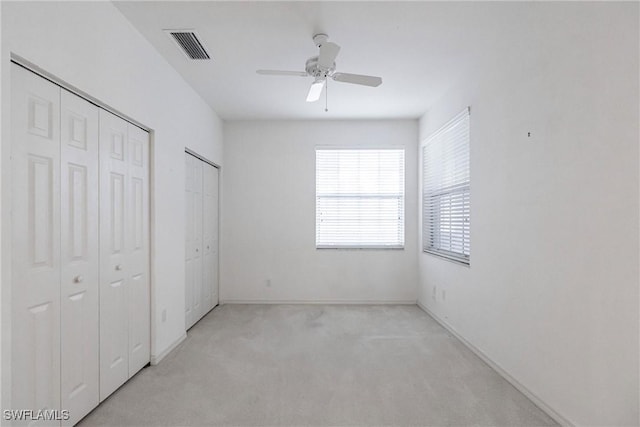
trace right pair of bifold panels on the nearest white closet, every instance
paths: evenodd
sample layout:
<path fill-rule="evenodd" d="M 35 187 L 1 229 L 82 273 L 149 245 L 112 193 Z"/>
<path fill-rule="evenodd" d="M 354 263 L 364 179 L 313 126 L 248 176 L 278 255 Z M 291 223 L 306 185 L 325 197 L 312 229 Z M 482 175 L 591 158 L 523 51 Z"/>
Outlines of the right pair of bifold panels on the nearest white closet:
<path fill-rule="evenodd" d="M 149 361 L 148 134 L 100 110 L 100 400 Z"/>

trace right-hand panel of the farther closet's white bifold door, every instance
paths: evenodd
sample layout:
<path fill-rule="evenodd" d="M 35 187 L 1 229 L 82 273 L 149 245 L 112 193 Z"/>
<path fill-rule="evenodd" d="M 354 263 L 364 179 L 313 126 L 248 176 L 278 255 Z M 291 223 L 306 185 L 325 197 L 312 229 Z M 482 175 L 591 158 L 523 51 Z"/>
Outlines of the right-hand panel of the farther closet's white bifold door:
<path fill-rule="evenodd" d="M 218 304 L 218 169 L 204 163 L 204 286 L 207 311 Z"/>

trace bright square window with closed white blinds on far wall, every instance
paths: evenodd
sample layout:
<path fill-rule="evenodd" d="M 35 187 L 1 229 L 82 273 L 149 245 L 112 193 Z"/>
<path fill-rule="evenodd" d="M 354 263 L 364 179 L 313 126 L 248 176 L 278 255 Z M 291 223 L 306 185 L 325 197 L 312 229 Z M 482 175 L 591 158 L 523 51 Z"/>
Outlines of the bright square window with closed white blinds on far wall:
<path fill-rule="evenodd" d="M 404 149 L 316 149 L 316 247 L 404 247 Z"/>

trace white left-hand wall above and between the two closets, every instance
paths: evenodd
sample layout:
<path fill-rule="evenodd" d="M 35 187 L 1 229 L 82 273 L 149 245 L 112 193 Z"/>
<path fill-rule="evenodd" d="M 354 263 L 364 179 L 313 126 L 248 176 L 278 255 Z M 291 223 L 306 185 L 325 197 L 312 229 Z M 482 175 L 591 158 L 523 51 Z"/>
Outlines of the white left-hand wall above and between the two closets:
<path fill-rule="evenodd" d="M 11 53 L 153 130 L 151 352 L 159 355 L 185 331 L 184 148 L 222 164 L 222 122 L 110 2 L 2 2 L 3 175 L 10 150 Z M 7 245 L 10 187 L 6 179 L 3 185 L 2 242 Z M 6 248 L 5 255 L 10 252 Z M 5 257 L 3 382 L 9 378 L 10 343 L 5 321 L 10 318 L 10 262 L 6 261 Z M 167 320 L 161 322 L 165 309 Z M 5 382 L 5 391 L 6 386 Z"/>

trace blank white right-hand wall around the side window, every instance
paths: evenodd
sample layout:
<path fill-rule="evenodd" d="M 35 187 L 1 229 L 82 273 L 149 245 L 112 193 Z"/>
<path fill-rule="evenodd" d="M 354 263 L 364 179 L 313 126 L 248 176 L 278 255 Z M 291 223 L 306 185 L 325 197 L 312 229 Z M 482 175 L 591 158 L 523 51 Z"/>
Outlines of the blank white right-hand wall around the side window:
<path fill-rule="evenodd" d="M 638 425 L 638 3 L 501 13 L 420 121 L 471 106 L 471 267 L 421 254 L 419 301 L 569 422 Z"/>

